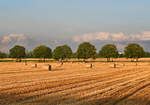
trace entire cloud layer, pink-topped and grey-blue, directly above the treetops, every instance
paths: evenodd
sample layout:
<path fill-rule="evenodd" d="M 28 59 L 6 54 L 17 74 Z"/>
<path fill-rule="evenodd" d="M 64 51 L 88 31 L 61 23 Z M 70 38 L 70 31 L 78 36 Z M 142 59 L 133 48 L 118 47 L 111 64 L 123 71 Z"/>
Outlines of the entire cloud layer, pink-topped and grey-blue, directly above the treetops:
<path fill-rule="evenodd" d="M 47 38 L 48 39 L 48 38 Z M 141 32 L 138 34 L 125 34 L 120 33 L 110 33 L 110 32 L 97 32 L 97 33 L 87 33 L 79 36 L 75 36 L 72 40 L 37 40 L 37 37 L 29 37 L 25 34 L 9 34 L 5 36 L 0 36 L 0 51 L 8 52 L 10 48 L 14 45 L 22 45 L 27 48 L 27 50 L 33 50 L 36 46 L 40 44 L 45 44 L 50 48 L 54 49 L 56 46 L 68 44 L 76 51 L 78 44 L 83 41 L 92 41 L 92 44 L 96 46 L 99 50 L 104 44 L 113 43 L 117 46 L 120 51 L 123 51 L 124 47 L 128 43 L 137 42 L 142 45 L 146 51 L 150 51 L 150 31 Z"/>

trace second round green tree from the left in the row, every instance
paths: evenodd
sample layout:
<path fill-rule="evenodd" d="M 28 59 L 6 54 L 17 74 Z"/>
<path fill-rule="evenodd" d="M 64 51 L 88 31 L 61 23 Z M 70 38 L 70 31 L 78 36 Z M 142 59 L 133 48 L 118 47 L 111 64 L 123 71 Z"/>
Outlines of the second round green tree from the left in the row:
<path fill-rule="evenodd" d="M 43 58 L 43 60 L 45 62 L 45 58 L 52 57 L 52 50 L 51 50 L 51 48 L 49 48 L 45 45 L 40 45 L 40 46 L 37 46 L 33 50 L 32 54 L 33 54 L 33 57 L 35 57 L 35 58 Z"/>

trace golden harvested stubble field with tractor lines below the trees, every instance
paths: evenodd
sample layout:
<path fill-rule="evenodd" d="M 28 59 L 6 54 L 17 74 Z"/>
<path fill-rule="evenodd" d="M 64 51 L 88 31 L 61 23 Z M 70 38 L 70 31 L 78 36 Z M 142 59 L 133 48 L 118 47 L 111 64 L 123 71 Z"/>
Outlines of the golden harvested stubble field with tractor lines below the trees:
<path fill-rule="evenodd" d="M 144 61 L 142 59 L 142 61 Z M 150 63 L 0 63 L 0 105 L 150 105 Z"/>

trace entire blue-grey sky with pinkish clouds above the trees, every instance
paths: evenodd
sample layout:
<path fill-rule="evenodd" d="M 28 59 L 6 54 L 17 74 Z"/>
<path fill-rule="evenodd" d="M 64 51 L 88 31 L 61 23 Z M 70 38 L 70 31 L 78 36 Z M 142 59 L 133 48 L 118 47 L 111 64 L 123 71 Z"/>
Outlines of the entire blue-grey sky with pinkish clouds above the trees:
<path fill-rule="evenodd" d="M 139 43 L 150 51 L 150 0 L 0 0 L 0 51 L 89 41 L 99 50 Z"/>

